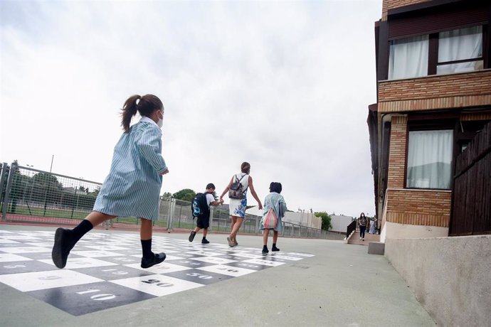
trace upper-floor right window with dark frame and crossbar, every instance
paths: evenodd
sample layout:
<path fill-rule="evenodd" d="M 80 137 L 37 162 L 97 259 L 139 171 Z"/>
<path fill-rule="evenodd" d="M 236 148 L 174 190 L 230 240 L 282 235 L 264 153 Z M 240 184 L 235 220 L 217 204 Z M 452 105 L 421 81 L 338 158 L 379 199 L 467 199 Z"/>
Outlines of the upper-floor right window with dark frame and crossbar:
<path fill-rule="evenodd" d="M 482 26 L 438 33 L 437 74 L 481 70 Z"/>

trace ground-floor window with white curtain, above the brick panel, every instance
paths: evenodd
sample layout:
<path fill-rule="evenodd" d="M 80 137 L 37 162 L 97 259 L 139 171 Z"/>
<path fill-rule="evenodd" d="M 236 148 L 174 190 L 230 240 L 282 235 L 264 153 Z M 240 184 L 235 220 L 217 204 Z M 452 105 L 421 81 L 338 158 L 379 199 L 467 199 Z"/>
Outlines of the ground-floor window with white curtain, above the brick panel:
<path fill-rule="evenodd" d="M 407 188 L 450 188 L 453 130 L 409 132 Z"/>

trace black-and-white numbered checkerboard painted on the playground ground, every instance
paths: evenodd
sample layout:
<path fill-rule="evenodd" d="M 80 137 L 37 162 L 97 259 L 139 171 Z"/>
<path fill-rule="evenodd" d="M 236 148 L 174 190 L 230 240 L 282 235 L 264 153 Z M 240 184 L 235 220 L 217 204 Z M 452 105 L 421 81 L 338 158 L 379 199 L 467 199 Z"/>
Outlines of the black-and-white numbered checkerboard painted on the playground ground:
<path fill-rule="evenodd" d="M 54 231 L 0 230 L 0 282 L 73 316 L 196 289 L 313 254 L 202 245 L 154 235 L 167 259 L 140 267 L 139 235 L 90 232 L 70 252 L 65 269 L 51 261 Z"/>

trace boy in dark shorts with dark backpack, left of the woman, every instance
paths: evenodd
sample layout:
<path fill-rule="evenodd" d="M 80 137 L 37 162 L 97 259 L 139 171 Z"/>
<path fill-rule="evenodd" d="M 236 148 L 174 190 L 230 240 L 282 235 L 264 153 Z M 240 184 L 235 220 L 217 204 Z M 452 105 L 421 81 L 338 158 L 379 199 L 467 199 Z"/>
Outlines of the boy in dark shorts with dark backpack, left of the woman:
<path fill-rule="evenodd" d="M 206 235 L 208 235 L 208 227 L 210 226 L 210 205 L 221 205 L 223 203 L 223 200 L 215 200 L 213 192 L 215 192 L 215 185 L 209 183 L 206 186 L 205 193 L 196 194 L 196 197 L 193 199 L 193 217 L 196 217 L 196 228 L 194 228 L 191 235 L 189 235 L 189 242 L 193 242 L 196 233 L 203 229 L 203 239 L 201 240 L 201 244 L 209 243 L 209 241 L 206 240 Z"/>

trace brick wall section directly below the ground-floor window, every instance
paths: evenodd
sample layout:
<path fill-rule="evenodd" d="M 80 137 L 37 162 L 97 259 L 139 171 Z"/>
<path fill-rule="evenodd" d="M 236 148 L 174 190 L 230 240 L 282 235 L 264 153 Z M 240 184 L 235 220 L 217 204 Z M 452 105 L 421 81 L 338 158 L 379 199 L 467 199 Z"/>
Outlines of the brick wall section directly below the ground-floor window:
<path fill-rule="evenodd" d="M 451 200 L 450 191 L 389 189 L 386 221 L 407 225 L 448 227 Z"/>

